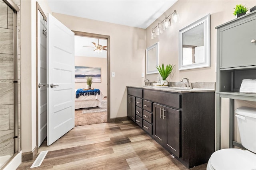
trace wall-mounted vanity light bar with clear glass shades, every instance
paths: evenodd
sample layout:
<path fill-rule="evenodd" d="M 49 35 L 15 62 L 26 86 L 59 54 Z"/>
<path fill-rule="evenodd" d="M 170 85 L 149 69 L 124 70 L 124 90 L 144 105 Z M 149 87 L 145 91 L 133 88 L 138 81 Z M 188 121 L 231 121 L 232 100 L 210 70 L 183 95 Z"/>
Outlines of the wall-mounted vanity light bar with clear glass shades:
<path fill-rule="evenodd" d="M 171 19 L 169 19 L 170 16 L 172 16 Z M 151 39 L 154 39 L 156 37 L 156 35 L 162 34 L 163 30 L 164 31 L 168 30 L 168 28 L 171 27 L 170 20 L 171 20 L 172 24 L 180 21 L 180 16 L 176 10 L 174 10 L 174 12 L 172 12 L 172 14 L 170 14 L 168 17 L 166 17 L 164 20 L 162 20 L 160 23 L 158 23 L 158 25 L 156 25 L 152 29 L 151 35 L 150 35 Z M 156 32 L 155 32 L 155 28 L 156 28 Z"/>

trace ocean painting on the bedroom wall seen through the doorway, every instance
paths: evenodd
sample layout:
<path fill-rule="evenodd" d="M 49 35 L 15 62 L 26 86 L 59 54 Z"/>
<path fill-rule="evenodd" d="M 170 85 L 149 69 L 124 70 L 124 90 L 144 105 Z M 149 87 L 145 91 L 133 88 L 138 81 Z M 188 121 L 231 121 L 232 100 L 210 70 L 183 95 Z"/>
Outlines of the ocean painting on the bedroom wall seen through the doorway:
<path fill-rule="evenodd" d="M 75 83 L 86 83 L 87 77 L 92 77 L 93 83 L 101 82 L 100 67 L 75 66 Z"/>

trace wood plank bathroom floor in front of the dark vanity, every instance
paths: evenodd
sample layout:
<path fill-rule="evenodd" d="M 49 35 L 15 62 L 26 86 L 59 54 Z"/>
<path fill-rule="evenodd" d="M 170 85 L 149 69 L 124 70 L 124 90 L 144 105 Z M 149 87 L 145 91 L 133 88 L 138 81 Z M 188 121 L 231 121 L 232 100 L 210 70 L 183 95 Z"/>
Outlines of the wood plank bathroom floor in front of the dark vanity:
<path fill-rule="evenodd" d="M 54 170 L 188 170 L 132 121 L 74 127 L 51 146 L 40 167 Z M 33 161 L 18 170 L 30 169 Z M 206 164 L 191 168 L 205 170 Z"/>

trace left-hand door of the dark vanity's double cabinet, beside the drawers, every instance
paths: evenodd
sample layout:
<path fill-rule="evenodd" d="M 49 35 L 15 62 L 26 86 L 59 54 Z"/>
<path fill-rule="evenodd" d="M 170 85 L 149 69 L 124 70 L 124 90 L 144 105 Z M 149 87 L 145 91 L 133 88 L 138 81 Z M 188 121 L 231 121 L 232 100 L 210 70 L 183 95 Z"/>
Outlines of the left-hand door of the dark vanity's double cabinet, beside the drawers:
<path fill-rule="evenodd" d="M 153 137 L 158 143 L 164 145 L 164 119 L 162 110 L 164 106 L 153 104 Z"/>

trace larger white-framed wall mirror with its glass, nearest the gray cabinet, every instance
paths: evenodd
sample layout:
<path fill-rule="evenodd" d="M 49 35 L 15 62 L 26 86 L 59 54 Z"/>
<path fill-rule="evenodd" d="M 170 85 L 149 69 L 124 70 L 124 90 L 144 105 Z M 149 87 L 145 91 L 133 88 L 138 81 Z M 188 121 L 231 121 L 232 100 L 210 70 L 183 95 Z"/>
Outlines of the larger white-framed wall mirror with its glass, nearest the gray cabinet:
<path fill-rule="evenodd" d="M 179 70 L 211 66 L 210 14 L 179 31 Z"/>

